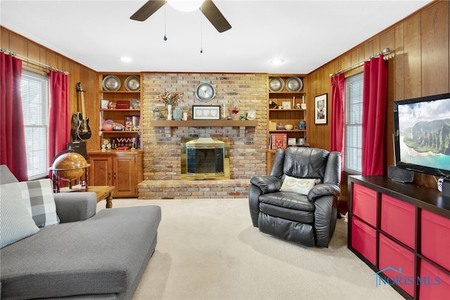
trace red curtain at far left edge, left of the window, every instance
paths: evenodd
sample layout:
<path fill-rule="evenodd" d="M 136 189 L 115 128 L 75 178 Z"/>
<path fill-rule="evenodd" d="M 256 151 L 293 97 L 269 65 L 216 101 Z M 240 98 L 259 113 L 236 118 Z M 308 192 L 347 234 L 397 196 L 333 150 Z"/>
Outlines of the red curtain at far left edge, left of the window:
<path fill-rule="evenodd" d="M 0 53 L 0 164 L 6 164 L 18 181 L 28 180 L 23 126 L 22 60 Z"/>

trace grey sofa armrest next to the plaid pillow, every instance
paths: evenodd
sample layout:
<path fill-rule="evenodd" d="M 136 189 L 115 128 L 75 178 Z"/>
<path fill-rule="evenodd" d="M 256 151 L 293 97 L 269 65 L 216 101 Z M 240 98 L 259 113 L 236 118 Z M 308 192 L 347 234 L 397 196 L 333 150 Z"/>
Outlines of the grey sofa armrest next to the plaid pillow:
<path fill-rule="evenodd" d="M 96 193 L 54 193 L 53 197 L 56 204 L 56 214 L 58 214 L 61 223 L 83 221 L 96 214 Z"/>

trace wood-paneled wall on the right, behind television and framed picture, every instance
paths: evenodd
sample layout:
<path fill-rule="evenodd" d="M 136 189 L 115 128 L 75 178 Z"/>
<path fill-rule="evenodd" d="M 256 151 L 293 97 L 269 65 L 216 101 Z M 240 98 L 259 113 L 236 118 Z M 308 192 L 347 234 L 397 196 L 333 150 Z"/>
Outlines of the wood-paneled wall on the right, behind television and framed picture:
<path fill-rule="evenodd" d="M 392 134 L 394 133 L 393 103 L 395 100 L 430 96 L 450 92 L 450 7 L 449 1 L 434 1 L 408 18 L 397 22 L 375 37 L 355 46 L 342 56 L 311 72 L 308 77 L 307 100 L 314 107 L 314 96 L 328 93 L 328 120 L 330 117 L 330 74 L 366 60 L 384 48 L 394 51 L 387 60 L 389 84 L 387 98 L 387 127 L 385 169 L 394 164 Z M 345 76 L 362 72 L 362 64 Z M 314 125 L 314 115 L 309 114 L 308 141 L 314 147 L 330 148 L 330 141 L 318 136 L 330 136 L 329 122 Z M 415 183 L 436 188 L 435 178 L 416 174 Z M 342 188 L 346 188 L 342 178 Z M 344 193 L 345 195 L 345 193 Z"/>

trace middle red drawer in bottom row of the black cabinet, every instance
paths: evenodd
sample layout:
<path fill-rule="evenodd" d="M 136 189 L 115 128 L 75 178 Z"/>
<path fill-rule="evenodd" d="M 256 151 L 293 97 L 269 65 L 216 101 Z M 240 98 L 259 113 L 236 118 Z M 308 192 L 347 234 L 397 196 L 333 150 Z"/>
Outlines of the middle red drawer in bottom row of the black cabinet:
<path fill-rule="evenodd" d="M 414 296 L 414 254 L 388 237 L 380 234 L 380 250 L 379 250 L 379 266 L 380 270 L 389 278 L 394 278 L 399 287 L 404 289 L 409 295 Z M 386 269 L 387 268 L 387 269 Z M 395 270 L 401 268 L 401 273 Z"/>

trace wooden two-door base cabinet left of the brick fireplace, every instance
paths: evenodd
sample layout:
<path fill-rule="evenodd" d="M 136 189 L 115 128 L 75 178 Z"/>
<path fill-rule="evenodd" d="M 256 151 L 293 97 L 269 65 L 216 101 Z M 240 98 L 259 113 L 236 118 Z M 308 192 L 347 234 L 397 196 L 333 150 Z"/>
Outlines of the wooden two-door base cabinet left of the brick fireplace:
<path fill-rule="evenodd" d="M 89 185 L 113 185 L 113 197 L 137 197 L 143 181 L 142 150 L 89 152 Z"/>

